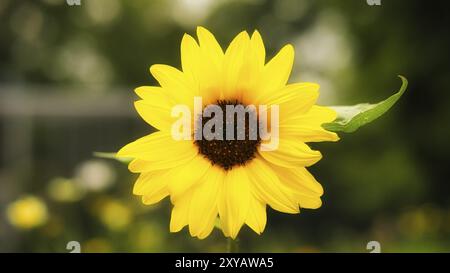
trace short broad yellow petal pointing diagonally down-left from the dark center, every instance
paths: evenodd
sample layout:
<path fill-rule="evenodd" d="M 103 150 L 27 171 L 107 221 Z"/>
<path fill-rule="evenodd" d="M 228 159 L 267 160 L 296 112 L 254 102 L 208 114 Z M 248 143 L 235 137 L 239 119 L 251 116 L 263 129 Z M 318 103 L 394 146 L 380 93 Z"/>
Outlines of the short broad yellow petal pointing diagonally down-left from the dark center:
<path fill-rule="evenodd" d="M 170 200 L 175 202 L 183 193 L 200 182 L 211 167 L 211 162 L 198 155 L 186 164 L 171 170 L 168 177 Z"/>

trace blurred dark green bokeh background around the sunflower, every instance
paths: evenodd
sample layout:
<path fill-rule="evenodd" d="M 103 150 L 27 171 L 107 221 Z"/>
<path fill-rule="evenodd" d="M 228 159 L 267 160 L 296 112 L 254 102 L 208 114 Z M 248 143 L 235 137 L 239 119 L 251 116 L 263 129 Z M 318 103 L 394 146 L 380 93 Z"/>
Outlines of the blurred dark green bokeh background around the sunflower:
<path fill-rule="evenodd" d="M 131 194 L 136 175 L 113 152 L 152 131 L 133 89 L 151 64 L 179 67 L 182 34 L 203 25 L 226 46 L 258 29 L 268 55 L 296 49 L 291 81 L 321 85 L 324 105 L 377 102 L 410 86 L 376 122 L 317 143 L 319 210 L 269 210 L 242 251 L 450 251 L 450 61 L 446 1 L 0 1 L 0 252 L 225 251 L 219 231 L 168 231 L 170 202 Z"/>

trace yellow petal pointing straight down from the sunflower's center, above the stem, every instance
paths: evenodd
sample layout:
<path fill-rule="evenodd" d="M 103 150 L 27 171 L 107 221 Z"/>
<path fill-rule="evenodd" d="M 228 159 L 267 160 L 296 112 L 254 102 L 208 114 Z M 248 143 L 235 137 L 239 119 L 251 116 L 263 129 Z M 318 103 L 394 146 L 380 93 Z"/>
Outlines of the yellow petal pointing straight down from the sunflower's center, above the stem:
<path fill-rule="evenodd" d="M 225 235 L 236 238 L 245 222 L 250 207 L 250 182 L 244 167 L 227 172 L 218 200 L 222 230 Z"/>

